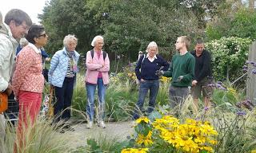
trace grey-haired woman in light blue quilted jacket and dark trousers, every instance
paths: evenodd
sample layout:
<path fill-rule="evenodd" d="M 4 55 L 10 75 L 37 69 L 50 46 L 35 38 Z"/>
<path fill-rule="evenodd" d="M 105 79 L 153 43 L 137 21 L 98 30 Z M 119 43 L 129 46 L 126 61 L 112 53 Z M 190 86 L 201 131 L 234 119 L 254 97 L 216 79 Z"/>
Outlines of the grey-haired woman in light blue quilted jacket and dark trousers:
<path fill-rule="evenodd" d="M 78 59 L 80 54 L 75 51 L 78 45 L 78 38 L 74 35 L 67 35 L 63 39 L 64 48 L 54 53 L 50 61 L 48 80 L 54 86 L 57 102 L 54 104 L 55 122 L 59 120 L 70 120 L 71 100 L 74 90 L 74 81 L 78 73 Z M 67 126 L 69 130 L 69 123 Z"/>

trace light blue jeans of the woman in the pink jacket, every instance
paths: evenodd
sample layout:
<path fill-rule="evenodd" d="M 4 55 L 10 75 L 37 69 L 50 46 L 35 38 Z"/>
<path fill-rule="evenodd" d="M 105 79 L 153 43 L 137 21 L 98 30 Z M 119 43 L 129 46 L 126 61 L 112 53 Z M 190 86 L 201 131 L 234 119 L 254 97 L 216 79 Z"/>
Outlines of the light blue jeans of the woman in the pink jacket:
<path fill-rule="evenodd" d="M 94 120 L 94 93 L 98 87 L 98 121 L 104 120 L 106 85 L 102 78 L 98 78 L 97 84 L 86 84 L 87 104 L 86 112 L 89 120 Z"/>

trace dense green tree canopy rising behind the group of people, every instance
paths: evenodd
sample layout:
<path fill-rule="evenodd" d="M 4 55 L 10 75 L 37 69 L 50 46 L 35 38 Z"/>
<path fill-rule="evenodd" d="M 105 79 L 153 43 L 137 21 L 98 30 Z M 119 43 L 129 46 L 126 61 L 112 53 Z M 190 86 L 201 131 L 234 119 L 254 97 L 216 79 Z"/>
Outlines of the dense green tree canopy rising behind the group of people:
<path fill-rule="evenodd" d="M 62 48 L 62 39 L 69 33 L 78 37 L 78 52 L 85 53 L 93 37 L 100 34 L 108 53 L 135 61 L 150 41 L 157 42 L 160 53 L 169 55 L 178 36 L 202 37 L 204 18 L 212 16 L 220 2 L 51 0 L 39 18 L 50 35 L 46 46 L 50 53 Z"/>

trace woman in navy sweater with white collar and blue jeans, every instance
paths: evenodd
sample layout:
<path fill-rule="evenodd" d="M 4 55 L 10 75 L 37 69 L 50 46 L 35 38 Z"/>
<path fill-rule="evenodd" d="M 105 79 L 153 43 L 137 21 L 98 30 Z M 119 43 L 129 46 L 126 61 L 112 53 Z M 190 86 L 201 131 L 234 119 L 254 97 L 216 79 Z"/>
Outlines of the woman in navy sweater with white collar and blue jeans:
<path fill-rule="evenodd" d="M 144 100 L 148 90 L 150 90 L 150 101 L 147 113 L 154 111 L 154 104 L 158 95 L 159 77 L 155 72 L 159 69 L 167 70 L 169 64 L 158 55 L 158 45 L 152 41 L 146 48 L 147 54 L 141 56 L 135 68 L 136 77 L 140 82 L 138 92 L 138 102 L 134 111 L 134 120 L 139 118 L 139 113 L 142 112 Z"/>

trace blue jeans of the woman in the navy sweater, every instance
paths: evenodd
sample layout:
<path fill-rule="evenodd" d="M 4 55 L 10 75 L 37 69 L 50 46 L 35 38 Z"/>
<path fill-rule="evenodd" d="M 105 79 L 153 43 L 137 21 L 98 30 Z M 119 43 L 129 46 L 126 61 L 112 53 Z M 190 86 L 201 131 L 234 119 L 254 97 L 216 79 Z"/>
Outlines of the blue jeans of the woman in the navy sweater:
<path fill-rule="evenodd" d="M 143 104 L 146 98 L 146 94 L 148 90 L 150 90 L 150 101 L 149 101 L 149 108 L 147 109 L 147 112 L 153 112 L 154 111 L 154 105 L 155 100 L 158 96 L 158 88 L 159 88 L 159 80 L 145 80 L 140 81 L 140 87 L 138 92 L 138 102 L 136 104 L 135 111 L 134 111 L 134 120 L 137 120 L 139 118 L 138 115 L 138 109 L 142 111 Z"/>

